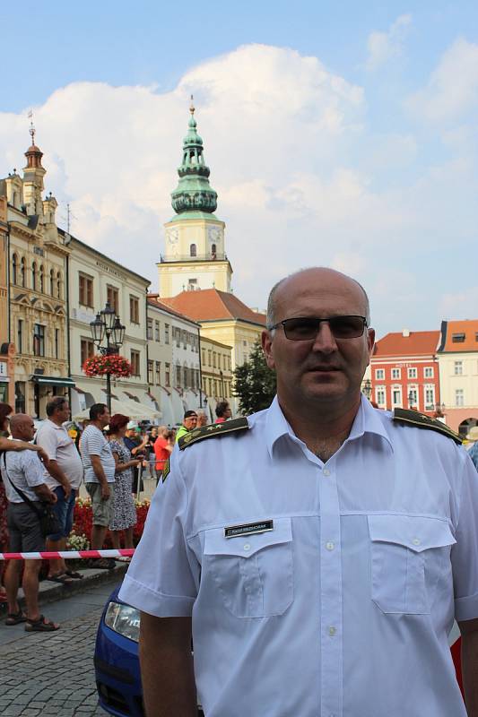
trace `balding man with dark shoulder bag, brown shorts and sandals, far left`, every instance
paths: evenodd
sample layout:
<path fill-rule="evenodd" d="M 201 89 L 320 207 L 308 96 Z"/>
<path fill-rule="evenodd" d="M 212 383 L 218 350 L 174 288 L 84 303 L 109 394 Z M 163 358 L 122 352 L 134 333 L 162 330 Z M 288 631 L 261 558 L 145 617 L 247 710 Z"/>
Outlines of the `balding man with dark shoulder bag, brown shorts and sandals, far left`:
<path fill-rule="evenodd" d="M 30 441 L 35 434 L 33 419 L 24 413 L 17 413 L 10 419 L 13 440 Z M 10 536 L 10 550 L 16 552 L 37 552 L 45 549 L 41 532 L 39 511 L 41 503 L 56 503 L 56 495 L 45 483 L 44 468 L 37 453 L 22 451 L 4 453 L 1 462 L 2 478 L 8 499 L 7 521 Z M 24 500 L 30 500 L 32 506 Z M 52 632 L 58 629 L 39 613 L 39 569 L 41 560 L 25 560 L 22 588 L 27 604 L 26 614 L 17 600 L 22 560 L 10 560 L 4 574 L 4 585 L 8 600 L 8 615 L 5 625 L 12 626 L 25 622 L 27 632 Z"/>

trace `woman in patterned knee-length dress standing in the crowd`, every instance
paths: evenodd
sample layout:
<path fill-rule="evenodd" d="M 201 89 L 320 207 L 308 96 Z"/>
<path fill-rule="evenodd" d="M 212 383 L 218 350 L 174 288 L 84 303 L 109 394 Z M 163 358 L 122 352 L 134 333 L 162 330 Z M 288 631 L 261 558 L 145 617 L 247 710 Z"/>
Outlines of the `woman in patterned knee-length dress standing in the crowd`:
<path fill-rule="evenodd" d="M 113 519 L 109 524 L 113 548 L 120 548 L 119 533 L 125 531 L 125 548 L 134 548 L 133 528 L 136 524 L 136 507 L 133 497 L 133 469 L 140 461 L 131 459 L 125 445 L 126 427 L 129 418 L 115 413 L 109 421 L 109 445 L 116 462 L 115 495 Z M 119 558 L 129 560 L 128 557 Z"/>

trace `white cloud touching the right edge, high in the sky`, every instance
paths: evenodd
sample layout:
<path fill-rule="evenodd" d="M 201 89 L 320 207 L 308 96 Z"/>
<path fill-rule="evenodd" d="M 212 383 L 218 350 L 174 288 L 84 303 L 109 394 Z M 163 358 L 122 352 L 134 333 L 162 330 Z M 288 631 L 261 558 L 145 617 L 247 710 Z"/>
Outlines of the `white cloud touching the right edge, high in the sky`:
<path fill-rule="evenodd" d="M 430 123 L 455 121 L 478 108 L 478 44 L 463 38 L 441 57 L 429 82 L 406 102 L 416 117 Z M 474 116 L 476 119 L 476 116 Z"/>

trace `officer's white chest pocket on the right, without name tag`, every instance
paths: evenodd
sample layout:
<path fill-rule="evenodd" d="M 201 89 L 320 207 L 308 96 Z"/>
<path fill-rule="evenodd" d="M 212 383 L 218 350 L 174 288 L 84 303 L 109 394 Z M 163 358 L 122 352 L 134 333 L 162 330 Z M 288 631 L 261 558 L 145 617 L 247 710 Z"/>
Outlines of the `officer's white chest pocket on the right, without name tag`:
<path fill-rule="evenodd" d="M 369 515 L 372 600 L 386 613 L 430 613 L 435 584 L 456 542 L 448 523 L 412 515 Z"/>

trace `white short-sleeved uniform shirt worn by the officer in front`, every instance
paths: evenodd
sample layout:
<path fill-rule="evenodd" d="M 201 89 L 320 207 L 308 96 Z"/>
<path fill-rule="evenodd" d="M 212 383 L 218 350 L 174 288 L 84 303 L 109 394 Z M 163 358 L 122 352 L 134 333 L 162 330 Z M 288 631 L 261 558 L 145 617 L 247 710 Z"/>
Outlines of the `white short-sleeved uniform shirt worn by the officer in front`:
<path fill-rule="evenodd" d="M 478 475 L 362 400 L 326 463 L 275 400 L 175 449 L 119 593 L 193 617 L 207 717 L 465 717 L 448 648 L 478 617 Z M 273 520 L 274 529 L 225 537 Z"/>

